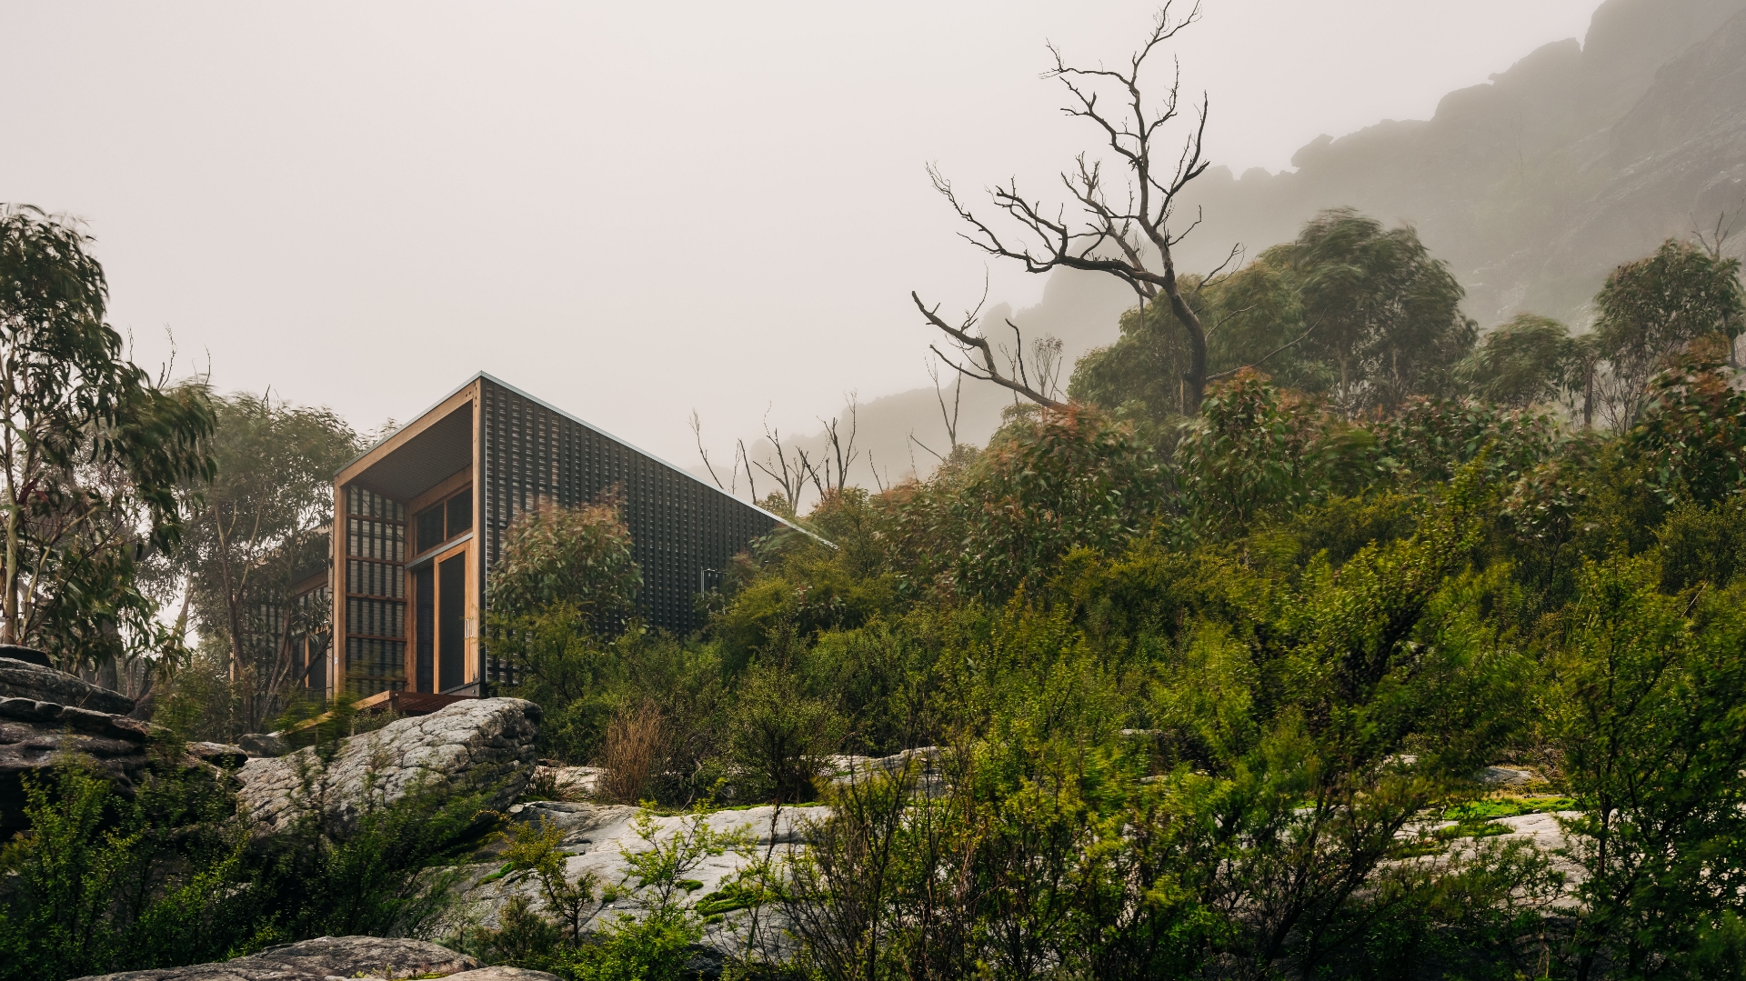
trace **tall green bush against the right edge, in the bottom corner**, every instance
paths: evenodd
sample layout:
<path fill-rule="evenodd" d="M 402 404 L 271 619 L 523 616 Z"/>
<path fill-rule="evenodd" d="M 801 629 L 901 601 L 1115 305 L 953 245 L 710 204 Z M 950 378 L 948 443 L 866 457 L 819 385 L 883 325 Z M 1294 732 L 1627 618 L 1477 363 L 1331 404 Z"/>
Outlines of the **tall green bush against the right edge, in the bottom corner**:
<path fill-rule="evenodd" d="M 1587 873 L 1577 976 L 1643 976 L 1697 957 L 1737 915 L 1746 813 L 1746 621 L 1741 588 L 1664 595 L 1652 560 L 1584 569 L 1559 618 L 1545 738 L 1584 801 L 1564 822 Z"/>

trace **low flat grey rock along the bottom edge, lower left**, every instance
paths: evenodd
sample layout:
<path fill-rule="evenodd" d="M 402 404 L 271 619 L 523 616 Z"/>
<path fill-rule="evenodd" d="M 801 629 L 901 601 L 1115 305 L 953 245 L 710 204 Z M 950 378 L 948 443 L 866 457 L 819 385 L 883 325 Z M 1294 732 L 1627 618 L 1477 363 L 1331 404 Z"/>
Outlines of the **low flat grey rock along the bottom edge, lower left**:
<path fill-rule="evenodd" d="M 328 981 L 328 978 L 454 978 L 478 969 L 464 953 L 426 941 L 318 937 L 251 957 L 190 967 L 122 971 L 77 981 Z"/>

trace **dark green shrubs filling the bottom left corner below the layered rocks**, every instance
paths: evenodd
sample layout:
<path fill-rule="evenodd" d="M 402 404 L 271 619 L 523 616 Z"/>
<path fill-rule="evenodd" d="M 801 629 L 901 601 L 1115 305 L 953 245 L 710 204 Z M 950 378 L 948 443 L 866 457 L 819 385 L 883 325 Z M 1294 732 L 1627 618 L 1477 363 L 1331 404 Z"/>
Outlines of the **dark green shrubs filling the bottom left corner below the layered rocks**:
<path fill-rule="evenodd" d="M 318 936 L 423 936 L 450 876 L 428 868 L 484 794 L 430 787 L 365 803 L 339 840 L 316 815 L 251 841 L 232 792 L 166 765 L 133 796 L 75 761 L 24 777 L 30 829 L 0 850 L 0 978 L 70 978 L 241 957 Z"/>

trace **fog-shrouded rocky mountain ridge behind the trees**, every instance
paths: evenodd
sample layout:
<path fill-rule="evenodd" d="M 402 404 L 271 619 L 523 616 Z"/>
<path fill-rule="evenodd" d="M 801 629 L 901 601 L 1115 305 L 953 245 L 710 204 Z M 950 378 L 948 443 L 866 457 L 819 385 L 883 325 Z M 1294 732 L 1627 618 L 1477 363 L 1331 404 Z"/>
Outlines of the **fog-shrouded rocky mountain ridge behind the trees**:
<path fill-rule="evenodd" d="M 1201 208 L 1205 220 L 1177 248 L 1177 267 L 1212 269 L 1238 243 L 1259 255 L 1297 237 L 1318 211 L 1351 206 L 1414 225 L 1467 288 L 1463 307 L 1482 330 L 1517 312 L 1580 330 L 1613 267 L 1746 208 L 1746 0 L 1606 0 L 1582 44 L 1542 45 L 1489 82 L 1449 93 L 1428 120 L 1320 136 L 1292 166 L 1243 175 L 1219 166 L 1196 180 L 1182 211 Z M 993 305 L 981 323 L 997 339 L 1011 337 L 1006 318 L 1027 342 L 1058 337 L 1070 365 L 1114 342 L 1133 304 L 1109 276 L 1055 271 L 1041 302 L 1016 312 Z M 952 381 L 941 377 L 948 408 Z M 1011 403 L 1009 391 L 966 381 L 959 440 L 985 443 Z M 911 433 L 945 452 L 932 388 L 871 400 L 857 415 L 857 484 L 889 485 L 911 461 L 925 475 L 934 457 Z M 815 454 L 824 436 L 794 442 Z M 765 440 L 747 447 L 754 459 L 770 454 Z"/>

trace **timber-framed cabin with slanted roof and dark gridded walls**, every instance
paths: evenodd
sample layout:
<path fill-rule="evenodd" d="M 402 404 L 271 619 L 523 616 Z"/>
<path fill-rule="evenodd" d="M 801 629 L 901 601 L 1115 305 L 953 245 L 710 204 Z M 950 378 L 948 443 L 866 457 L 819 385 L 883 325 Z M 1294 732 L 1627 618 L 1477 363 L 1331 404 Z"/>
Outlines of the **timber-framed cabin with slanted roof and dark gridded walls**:
<path fill-rule="evenodd" d="M 643 571 L 639 616 L 679 634 L 700 625 L 697 593 L 728 560 L 786 524 L 480 372 L 333 477 L 332 566 L 295 599 L 332 602 L 327 630 L 297 641 L 304 684 L 414 712 L 513 684 L 480 644 L 505 529 L 613 489 Z"/>

